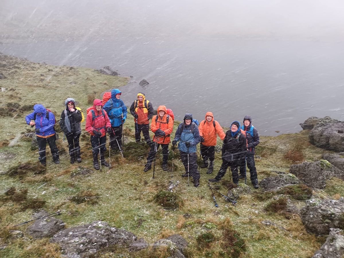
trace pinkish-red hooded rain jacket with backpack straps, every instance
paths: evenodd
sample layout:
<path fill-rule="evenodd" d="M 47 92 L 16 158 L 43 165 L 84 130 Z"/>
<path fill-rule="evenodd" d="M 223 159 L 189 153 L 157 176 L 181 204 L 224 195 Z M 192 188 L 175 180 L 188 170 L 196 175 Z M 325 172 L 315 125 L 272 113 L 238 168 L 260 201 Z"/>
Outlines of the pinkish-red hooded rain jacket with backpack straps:
<path fill-rule="evenodd" d="M 92 119 L 92 116 L 93 116 L 92 111 L 89 111 L 86 117 L 85 129 L 90 135 L 94 135 L 93 130 L 98 130 L 101 132 L 101 137 L 103 137 L 106 134 L 106 129 L 111 128 L 111 123 L 106 111 L 102 109 L 98 111 L 96 109 L 96 104 L 101 105 L 101 100 L 95 99 L 93 101 L 93 111 L 95 114 L 95 118 L 94 120 Z M 104 112 L 104 116 L 103 116 L 102 111 Z"/>

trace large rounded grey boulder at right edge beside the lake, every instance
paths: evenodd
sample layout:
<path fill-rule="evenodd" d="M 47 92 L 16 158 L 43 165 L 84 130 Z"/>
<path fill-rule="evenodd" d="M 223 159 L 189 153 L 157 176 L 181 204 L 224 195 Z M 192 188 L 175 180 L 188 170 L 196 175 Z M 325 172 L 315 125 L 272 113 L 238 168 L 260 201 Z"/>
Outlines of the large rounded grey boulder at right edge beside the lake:
<path fill-rule="evenodd" d="M 322 120 L 309 132 L 309 142 L 326 150 L 344 151 L 344 122 L 330 117 Z"/>

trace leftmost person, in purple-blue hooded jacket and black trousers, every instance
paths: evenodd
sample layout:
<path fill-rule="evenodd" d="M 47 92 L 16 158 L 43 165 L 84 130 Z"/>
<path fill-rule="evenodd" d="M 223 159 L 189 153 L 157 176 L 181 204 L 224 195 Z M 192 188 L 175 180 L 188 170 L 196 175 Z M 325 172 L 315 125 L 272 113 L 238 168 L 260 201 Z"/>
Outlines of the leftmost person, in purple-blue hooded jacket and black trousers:
<path fill-rule="evenodd" d="M 33 121 L 32 121 L 33 120 Z M 35 126 L 36 139 L 38 143 L 39 162 L 46 165 L 45 148 L 49 144 L 51 154 L 55 164 L 60 164 L 60 157 L 56 146 L 55 116 L 45 109 L 41 104 L 33 106 L 33 112 L 25 117 L 25 121 L 30 126 Z"/>

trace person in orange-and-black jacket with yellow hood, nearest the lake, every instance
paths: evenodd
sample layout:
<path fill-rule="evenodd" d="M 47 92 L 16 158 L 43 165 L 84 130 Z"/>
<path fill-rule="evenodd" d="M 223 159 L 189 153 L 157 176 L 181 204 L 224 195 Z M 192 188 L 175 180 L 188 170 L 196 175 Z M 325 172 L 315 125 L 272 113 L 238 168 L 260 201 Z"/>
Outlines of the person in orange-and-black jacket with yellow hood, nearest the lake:
<path fill-rule="evenodd" d="M 134 117 L 135 121 L 135 141 L 141 141 L 141 131 L 146 143 L 151 146 L 152 141 L 149 137 L 149 119 L 152 118 L 154 113 L 153 105 L 146 99 L 146 96 L 139 92 L 137 100 L 135 100 L 130 107 L 130 114 Z"/>

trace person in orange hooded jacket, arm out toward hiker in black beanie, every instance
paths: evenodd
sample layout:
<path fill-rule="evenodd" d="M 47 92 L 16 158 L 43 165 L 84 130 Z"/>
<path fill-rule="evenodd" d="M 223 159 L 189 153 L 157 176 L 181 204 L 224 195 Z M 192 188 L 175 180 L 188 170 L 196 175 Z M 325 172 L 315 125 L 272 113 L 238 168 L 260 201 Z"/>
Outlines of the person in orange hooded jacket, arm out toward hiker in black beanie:
<path fill-rule="evenodd" d="M 203 158 L 203 163 L 201 164 L 201 168 L 208 167 L 208 160 L 209 160 L 209 168 L 207 174 L 213 173 L 214 169 L 214 159 L 215 159 L 215 145 L 216 145 L 216 134 L 220 137 L 223 141 L 225 139 L 225 133 L 223 132 L 222 127 L 220 124 L 214 120 L 214 116 L 212 112 L 206 112 L 205 120 L 200 122 L 200 126 L 198 126 L 198 130 L 200 131 L 201 136 L 201 155 Z"/>

